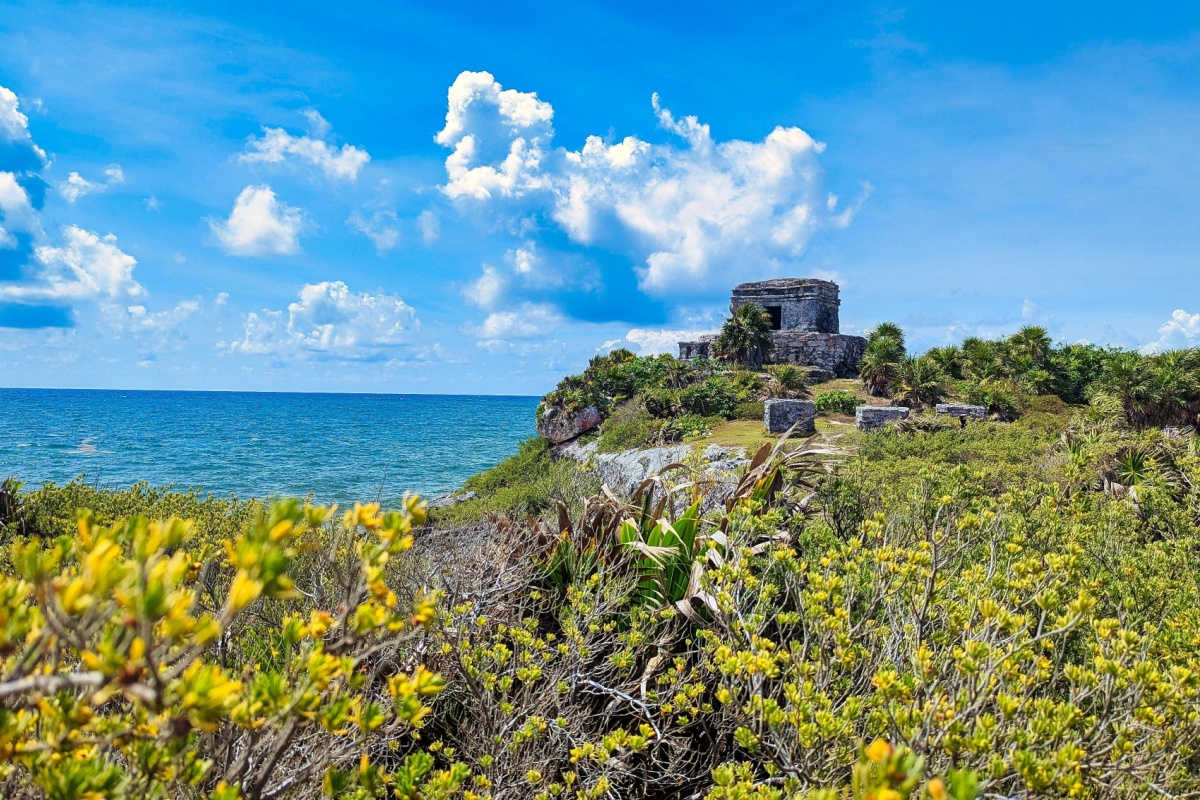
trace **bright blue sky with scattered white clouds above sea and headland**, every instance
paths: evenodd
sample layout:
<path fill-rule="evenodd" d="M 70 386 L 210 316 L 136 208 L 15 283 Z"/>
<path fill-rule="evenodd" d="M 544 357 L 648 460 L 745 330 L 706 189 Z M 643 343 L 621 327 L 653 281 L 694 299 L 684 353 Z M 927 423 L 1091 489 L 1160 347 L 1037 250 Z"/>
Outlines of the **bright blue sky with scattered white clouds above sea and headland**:
<path fill-rule="evenodd" d="M 1200 344 L 1200 6 L 949 5 L 0 1 L 0 386 L 540 395 L 779 276 Z"/>

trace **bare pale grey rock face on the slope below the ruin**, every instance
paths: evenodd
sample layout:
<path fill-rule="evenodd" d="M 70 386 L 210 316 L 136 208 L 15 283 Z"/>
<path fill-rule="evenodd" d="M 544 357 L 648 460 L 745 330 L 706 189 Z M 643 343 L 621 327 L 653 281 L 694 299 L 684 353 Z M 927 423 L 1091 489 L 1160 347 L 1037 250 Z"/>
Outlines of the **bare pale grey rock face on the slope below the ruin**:
<path fill-rule="evenodd" d="M 720 485 L 732 488 L 737 473 L 750 461 L 742 447 L 720 447 L 709 445 L 703 450 L 690 445 L 671 445 L 667 447 L 646 447 L 640 450 L 622 450 L 619 452 L 598 452 L 598 443 L 572 441 L 558 447 L 556 455 L 572 458 L 584 464 L 589 470 L 620 494 L 629 494 L 647 477 L 658 475 L 671 464 L 685 463 L 692 470 L 694 479 L 713 481 L 716 489 L 709 492 L 714 500 L 724 499 Z M 686 475 L 686 473 L 684 474 Z M 680 480 L 683 475 L 678 476 Z M 726 489 L 726 492 L 727 492 Z"/>

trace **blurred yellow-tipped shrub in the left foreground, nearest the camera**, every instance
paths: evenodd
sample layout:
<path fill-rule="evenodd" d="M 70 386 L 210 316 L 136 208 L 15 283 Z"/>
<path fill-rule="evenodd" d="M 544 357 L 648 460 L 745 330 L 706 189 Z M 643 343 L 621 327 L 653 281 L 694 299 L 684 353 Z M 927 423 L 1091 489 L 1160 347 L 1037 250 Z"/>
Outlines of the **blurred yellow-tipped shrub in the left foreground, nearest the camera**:
<path fill-rule="evenodd" d="M 185 521 L 88 512 L 74 537 L 16 541 L 0 575 L 4 796 L 455 792 L 464 768 L 404 744 L 444 686 L 397 649 L 424 636 L 433 601 L 402 606 L 384 581 L 425 507 L 332 512 L 276 504 L 220 552 Z M 354 569 L 314 607 L 293 567 L 320 543 Z M 239 637 L 271 615 L 265 657 L 248 658 Z"/>

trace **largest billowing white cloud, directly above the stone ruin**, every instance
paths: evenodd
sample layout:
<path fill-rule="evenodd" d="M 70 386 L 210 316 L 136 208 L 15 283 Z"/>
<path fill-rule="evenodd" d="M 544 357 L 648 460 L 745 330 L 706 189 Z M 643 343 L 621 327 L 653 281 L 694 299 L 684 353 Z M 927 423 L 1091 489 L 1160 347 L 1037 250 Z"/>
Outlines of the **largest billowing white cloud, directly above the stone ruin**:
<path fill-rule="evenodd" d="M 463 72 L 436 136 L 451 150 L 442 191 L 526 224 L 548 219 L 574 245 L 620 253 L 638 287 L 659 296 L 793 270 L 817 231 L 845 227 L 862 203 L 839 209 L 822 187 L 824 145 L 799 127 L 718 140 L 656 95 L 650 106 L 677 142 L 589 136 L 578 150 L 556 148 L 550 103 L 487 72 Z"/>

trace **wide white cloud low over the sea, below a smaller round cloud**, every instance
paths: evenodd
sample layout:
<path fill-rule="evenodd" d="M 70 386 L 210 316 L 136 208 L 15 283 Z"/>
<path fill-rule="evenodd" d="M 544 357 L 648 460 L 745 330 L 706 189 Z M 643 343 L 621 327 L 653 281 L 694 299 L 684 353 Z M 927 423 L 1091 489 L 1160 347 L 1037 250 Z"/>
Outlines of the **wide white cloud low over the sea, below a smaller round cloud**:
<path fill-rule="evenodd" d="M 407 351 L 419 329 L 401 297 L 350 291 L 341 281 L 310 283 L 286 309 L 246 315 L 234 353 L 343 361 L 386 361 Z"/>

